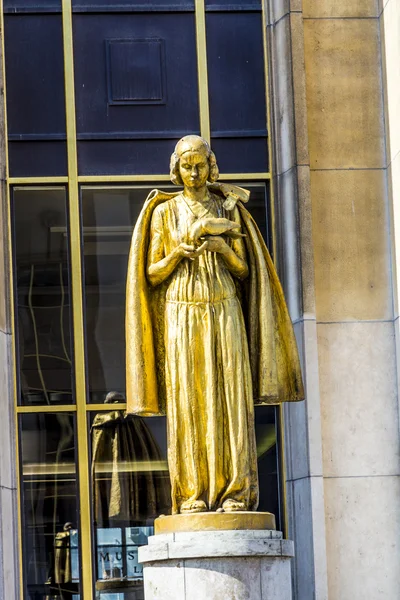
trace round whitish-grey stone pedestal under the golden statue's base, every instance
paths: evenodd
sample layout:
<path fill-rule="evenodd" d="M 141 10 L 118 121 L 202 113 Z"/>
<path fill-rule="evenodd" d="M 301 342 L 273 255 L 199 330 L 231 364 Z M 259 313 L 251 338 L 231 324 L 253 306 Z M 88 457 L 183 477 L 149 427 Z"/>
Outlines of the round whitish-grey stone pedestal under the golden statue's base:
<path fill-rule="evenodd" d="M 291 600 L 293 554 L 277 531 L 154 535 L 139 548 L 145 600 Z"/>

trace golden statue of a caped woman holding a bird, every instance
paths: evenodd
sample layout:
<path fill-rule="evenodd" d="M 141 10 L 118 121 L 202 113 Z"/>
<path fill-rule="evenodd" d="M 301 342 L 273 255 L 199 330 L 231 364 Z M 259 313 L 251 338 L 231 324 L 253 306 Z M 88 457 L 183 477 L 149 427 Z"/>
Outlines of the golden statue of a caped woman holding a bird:
<path fill-rule="evenodd" d="M 302 400 L 296 341 L 249 192 L 215 183 L 182 138 L 136 223 L 126 300 L 127 410 L 167 415 L 172 512 L 258 505 L 254 404 Z"/>

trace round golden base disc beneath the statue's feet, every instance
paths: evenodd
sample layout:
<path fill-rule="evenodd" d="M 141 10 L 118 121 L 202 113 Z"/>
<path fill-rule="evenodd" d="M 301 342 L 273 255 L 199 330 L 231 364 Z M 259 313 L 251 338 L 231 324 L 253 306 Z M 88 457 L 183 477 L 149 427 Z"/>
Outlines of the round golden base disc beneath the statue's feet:
<path fill-rule="evenodd" d="M 169 515 L 154 521 L 154 533 L 184 531 L 249 531 L 276 529 L 275 516 L 266 512 L 203 512 L 192 515 Z"/>

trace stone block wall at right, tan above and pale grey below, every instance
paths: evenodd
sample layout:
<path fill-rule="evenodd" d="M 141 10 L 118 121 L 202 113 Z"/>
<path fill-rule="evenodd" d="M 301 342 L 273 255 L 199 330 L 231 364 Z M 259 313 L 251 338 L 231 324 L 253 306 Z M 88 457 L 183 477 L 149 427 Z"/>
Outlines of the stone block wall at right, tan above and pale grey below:
<path fill-rule="evenodd" d="M 400 587 L 380 11 L 374 0 L 303 2 L 330 600 L 394 599 Z M 325 596 L 301 600 L 314 597 Z"/>

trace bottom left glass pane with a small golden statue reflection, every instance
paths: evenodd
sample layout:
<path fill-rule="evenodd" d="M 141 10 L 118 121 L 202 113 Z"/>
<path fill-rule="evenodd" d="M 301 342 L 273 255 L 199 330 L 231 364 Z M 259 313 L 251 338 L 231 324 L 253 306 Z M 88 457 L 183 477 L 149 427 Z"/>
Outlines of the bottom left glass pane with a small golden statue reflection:
<path fill-rule="evenodd" d="M 80 598 L 74 415 L 20 415 L 20 431 L 25 598 Z"/>

